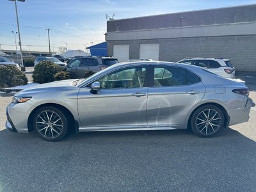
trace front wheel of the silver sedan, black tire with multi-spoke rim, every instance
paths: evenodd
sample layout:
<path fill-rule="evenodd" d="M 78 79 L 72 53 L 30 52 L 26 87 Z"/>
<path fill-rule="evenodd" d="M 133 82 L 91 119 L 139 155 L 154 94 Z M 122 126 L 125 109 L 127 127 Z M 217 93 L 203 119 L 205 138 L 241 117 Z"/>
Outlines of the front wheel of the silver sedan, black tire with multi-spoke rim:
<path fill-rule="evenodd" d="M 46 141 L 60 141 L 67 134 L 68 120 L 60 109 L 45 106 L 35 111 L 33 128 Z"/>

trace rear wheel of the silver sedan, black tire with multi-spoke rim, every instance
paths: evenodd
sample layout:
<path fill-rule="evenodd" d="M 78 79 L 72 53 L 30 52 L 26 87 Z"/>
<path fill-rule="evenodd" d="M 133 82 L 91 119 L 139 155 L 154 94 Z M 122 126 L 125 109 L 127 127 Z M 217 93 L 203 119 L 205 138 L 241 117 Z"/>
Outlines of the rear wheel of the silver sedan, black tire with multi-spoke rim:
<path fill-rule="evenodd" d="M 191 116 L 191 129 L 197 136 L 211 138 L 223 129 L 224 118 L 220 108 L 207 104 L 194 111 Z"/>

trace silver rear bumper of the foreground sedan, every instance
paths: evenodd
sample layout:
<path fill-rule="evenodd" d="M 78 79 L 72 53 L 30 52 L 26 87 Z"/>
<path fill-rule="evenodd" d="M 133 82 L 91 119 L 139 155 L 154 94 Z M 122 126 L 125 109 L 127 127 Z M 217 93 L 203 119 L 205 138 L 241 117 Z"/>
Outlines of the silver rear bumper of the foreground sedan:
<path fill-rule="evenodd" d="M 252 99 L 248 99 L 246 106 L 244 108 L 232 109 L 228 111 L 228 115 L 230 116 L 229 125 L 241 124 L 244 122 L 248 122 L 250 116 L 250 109 L 252 106 Z"/>

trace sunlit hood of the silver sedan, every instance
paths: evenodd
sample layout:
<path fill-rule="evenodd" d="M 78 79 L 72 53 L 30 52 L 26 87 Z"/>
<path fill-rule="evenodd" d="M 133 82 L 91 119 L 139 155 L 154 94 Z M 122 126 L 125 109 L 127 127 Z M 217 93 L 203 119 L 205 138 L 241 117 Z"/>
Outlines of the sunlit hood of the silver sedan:
<path fill-rule="evenodd" d="M 38 84 L 18 92 L 17 95 L 32 92 L 57 92 L 63 88 L 74 88 L 74 82 L 78 80 L 79 79 L 68 79 L 63 81 L 54 81 L 51 83 Z"/>

